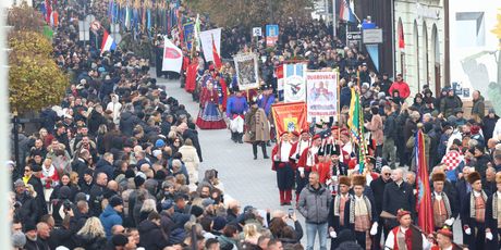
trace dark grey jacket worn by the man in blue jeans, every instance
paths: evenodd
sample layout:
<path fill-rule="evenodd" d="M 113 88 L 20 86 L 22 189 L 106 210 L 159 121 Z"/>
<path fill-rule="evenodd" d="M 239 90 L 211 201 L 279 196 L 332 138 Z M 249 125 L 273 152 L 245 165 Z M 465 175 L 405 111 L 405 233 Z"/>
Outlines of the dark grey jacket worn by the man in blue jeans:
<path fill-rule="evenodd" d="M 301 191 L 297 209 L 306 223 L 327 223 L 331 201 L 332 196 L 325 186 L 320 185 L 318 189 L 315 189 L 308 185 Z"/>

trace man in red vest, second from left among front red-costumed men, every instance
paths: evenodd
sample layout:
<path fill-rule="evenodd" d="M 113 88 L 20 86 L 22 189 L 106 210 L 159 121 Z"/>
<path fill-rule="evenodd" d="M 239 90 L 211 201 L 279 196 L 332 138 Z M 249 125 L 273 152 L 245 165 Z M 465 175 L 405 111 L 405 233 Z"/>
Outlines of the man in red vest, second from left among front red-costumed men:
<path fill-rule="evenodd" d="M 321 138 L 319 135 L 315 135 L 311 138 L 311 146 L 303 151 L 297 162 L 296 172 L 296 193 L 301 193 L 303 188 L 308 184 L 308 176 L 311 172 L 311 167 L 318 163 L 318 150 L 320 149 Z M 296 200 L 298 196 L 296 197 Z"/>

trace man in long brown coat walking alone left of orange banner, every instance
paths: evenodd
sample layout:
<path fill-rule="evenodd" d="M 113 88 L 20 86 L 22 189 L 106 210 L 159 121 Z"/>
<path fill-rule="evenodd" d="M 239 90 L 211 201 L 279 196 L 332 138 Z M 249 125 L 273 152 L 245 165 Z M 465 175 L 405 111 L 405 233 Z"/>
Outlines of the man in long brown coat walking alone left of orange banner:
<path fill-rule="evenodd" d="M 261 147 L 262 158 L 269 159 L 266 152 L 266 142 L 270 139 L 270 126 L 265 110 L 256 101 L 250 101 L 250 110 L 245 114 L 247 126 L 246 142 L 253 145 L 254 160 L 257 160 L 257 146 Z"/>

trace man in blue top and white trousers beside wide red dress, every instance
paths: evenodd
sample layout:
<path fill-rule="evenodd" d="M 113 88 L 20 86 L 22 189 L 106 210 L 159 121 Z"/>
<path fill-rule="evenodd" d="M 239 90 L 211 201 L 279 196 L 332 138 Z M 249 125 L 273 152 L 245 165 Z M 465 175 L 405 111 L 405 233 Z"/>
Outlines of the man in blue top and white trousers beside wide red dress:
<path fill-rule="evenodd" d="M 227 117 L 230 118 L 231 139 L 236 143 L 243 143 L 244 115 L 248 110 L 247 99 L 239 89 L 228 99 Z"/>

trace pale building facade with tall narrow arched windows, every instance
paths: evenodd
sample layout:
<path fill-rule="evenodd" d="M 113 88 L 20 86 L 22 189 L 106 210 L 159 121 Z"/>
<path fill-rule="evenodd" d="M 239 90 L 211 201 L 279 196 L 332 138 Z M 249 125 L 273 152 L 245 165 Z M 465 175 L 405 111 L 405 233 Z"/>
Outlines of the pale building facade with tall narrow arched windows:
<path fill-rule="evenodd" d="M 445 73 L 443 0 L 394 1 L 394 63 L 412 93 L 425 85 L 439 95 Z"/>

